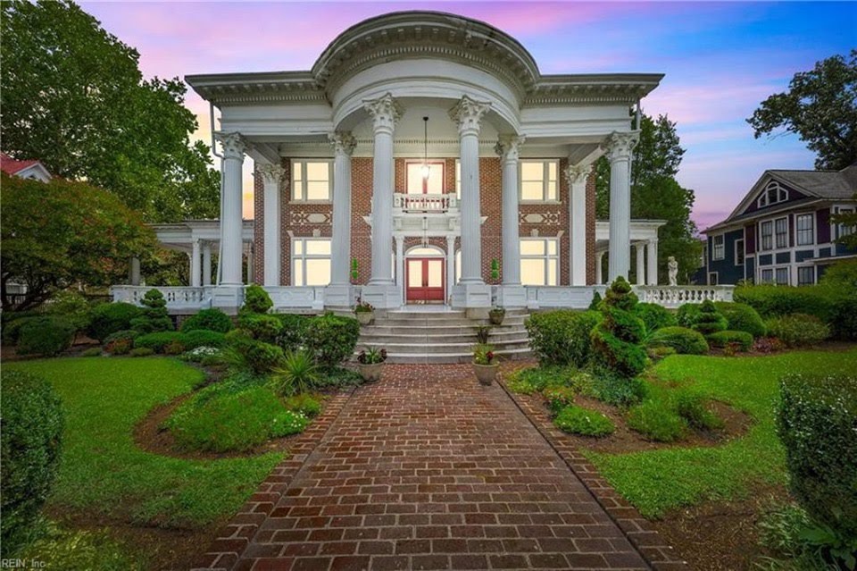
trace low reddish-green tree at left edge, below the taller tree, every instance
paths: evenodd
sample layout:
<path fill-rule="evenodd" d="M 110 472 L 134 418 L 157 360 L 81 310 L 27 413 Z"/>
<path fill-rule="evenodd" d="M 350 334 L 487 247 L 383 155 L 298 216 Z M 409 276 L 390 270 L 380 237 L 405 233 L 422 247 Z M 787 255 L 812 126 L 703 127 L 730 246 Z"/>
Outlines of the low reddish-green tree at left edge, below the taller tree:
<path fill-rule="evenodd" d="M 4 311 L 37 306 L 73 284 L 110 285 L 133 256 L 151 255 L 154 232 L 118 197 L 83 182 L 3 175 L 0 295 Z M 7 284 L 27 285 L 22 299 Z"/>

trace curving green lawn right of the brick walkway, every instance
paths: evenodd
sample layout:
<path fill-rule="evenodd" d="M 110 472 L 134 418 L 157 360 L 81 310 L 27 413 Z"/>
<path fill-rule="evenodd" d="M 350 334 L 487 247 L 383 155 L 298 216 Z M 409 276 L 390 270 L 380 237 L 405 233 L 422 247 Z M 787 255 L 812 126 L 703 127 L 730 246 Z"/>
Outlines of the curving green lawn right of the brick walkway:
<path fill-rule="evenodd" d="M 857 349 L 799 351 L 770 357 L 676 355 L 653 369 L 661 381 L 695 386 L 753 416 L 744 437 L 714 448 L 670 448 L 629 454 L 585 450 L 610 483 L 644 516 L 703 500 L 744 497 L 756 484 L 786 482 L 774 426 L 778 381 L 787 373 L 853 374 Z"/>

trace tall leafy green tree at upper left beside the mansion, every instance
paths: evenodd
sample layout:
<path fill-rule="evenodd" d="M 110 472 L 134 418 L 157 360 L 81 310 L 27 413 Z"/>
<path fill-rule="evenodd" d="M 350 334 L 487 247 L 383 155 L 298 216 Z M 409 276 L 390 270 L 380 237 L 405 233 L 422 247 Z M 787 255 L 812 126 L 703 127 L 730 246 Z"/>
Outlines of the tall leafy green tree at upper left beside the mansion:
<path fill-rule="evenodd" d="M 69 0 L 2 5 L 0 136 L 17 158 L 111 191 L 146 222 L 219 214 L 220 174 L 190 143 L 185 85 L 143 80 L 137 50 Z"/>

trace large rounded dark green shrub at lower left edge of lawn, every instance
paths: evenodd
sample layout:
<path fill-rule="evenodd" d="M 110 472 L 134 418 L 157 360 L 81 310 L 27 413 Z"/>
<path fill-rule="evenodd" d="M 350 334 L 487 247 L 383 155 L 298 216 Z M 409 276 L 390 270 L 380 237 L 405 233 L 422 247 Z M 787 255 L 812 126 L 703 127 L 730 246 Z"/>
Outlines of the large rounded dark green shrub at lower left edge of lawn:
<path fill-rule="evenodd" d="M 63 417 L 60 399 L 49 382 L 6 367 L 0 377 L 0 539 L 5 554 L 21 545 L 54 483 Z"/>

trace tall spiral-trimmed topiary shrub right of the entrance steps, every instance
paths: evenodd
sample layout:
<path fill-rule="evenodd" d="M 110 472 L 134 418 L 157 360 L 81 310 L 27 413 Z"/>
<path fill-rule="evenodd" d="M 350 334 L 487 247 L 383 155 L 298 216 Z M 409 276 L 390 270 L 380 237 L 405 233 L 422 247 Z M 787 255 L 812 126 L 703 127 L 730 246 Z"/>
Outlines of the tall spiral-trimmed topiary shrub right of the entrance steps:
<path fill-rule="evenodd" d="M 626 378 L 642 373 L 646 361 L 640 344 L 645 329 L 633 313 L 636 305 L 628 281 L 616 278 L 601 304 L 603 319 L 590 336 L 596 363 Z"/>

